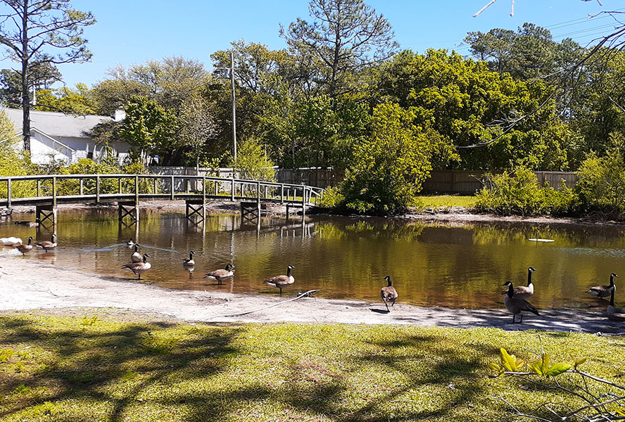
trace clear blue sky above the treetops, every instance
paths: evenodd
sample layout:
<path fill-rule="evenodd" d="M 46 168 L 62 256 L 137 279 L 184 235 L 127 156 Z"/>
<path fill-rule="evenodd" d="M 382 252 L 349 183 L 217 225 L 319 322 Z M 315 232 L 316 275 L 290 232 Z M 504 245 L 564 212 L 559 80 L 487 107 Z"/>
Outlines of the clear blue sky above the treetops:
<path fill-rule="evenodd" d="M 389 20 L 402 48 L 445 48 L 462 54 L 468 53 L 460 45 L 468 31 L 515 30 L 524 22 L 548 27 L 556 39 L 572 37 L 586 44 L 614 26 L 605 15 L 587 20 L 588 14 L 625 11 L 622 0 L 602 0 L 603 6 L 597 1 L 517 0 L 510 17 L 511 0 L 498 0 L 473 18 L 488 0 L 365 1 Z M 94 84 L 116 63 L 127 68 L 167 56 L 194 58 L 210 69 L 210 54 L 227 49 L 230 41 L 243 38 L 280 49 L 285 44 L 279 24 L 309 18 L 306 0 L 73 0 L 72 5 L 94 13 L 98 23 L 84 34 L 94 53 L 91 63 L 60 66 L 68 85 Z"/>

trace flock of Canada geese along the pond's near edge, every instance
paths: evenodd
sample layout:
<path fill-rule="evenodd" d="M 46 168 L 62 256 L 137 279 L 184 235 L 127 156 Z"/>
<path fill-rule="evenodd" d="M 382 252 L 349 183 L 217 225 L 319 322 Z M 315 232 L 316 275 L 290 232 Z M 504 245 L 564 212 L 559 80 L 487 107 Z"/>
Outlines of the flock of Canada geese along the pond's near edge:
<path fill-rule="evenodd" d="M 37 246 L 37 248 L 41 248 L 48 252 L 49 250 L 56 248 L 56 238 L 56 234 L 53 234 L 50 241 L 37 242 L 34 245 Z M 15 249 L 22 252 L 22 255 L 24 256 L 27 252 L 32 250 L 32 241 L 32 236 L 28 238 L 28 242 L 25 245 L 20 238 L 0 238 L 0 243 L 4 246 L 13 246 Z M 147 253 L 141 254 L 139 252 L 139 243 L 134 243 L 132 238 L 127 241 L 126 245 L 129 248 L 134 247 L 134 252 L 130 255 L 131 262 L 129 264 L 125 264 L 122 269 L 129 269 L 134 275 L 137 276 L 137 280 L 141 280 L 141 274 L 144 274 L 152 268 L 152 264 L 148 262 L 150 255 Z M 195 255 L 195 252 L 192 250 L 189 251 L 189 258 L 182 260 L 183 267 L 187 269 L 192 269 L 194 267 L 196 263 L 193 255 Z M 224 280 L 234 276 L 234 268 L 234 265 L 229 263 L 225 268 L 215 269 L 214 271 L 206 273 L 203 278 L 211 279 L 216 281 L 218 285 L 221 285 Z M 291 270 L 294 268 L 295 267 L 293 265 L 289 264 L 289 266 L 286 267 L 286 274 L 274 276 L 263 281 L 263 283 L 267 284 L 267 286 L 278 288 L 280 290 L 280 296 L 282 296 L 282 289 L 291 286 L 291 284 L 295 282 L 295 278 L 293 277 L 293 274 L 291 274 Z M 519 324 L 523 322 L 523 312 L 531 312 L 532 314 L 538 315 L 538 309 L 536 309 L 536 307 L 531 305 L 528 301 L 529 298 L 534 296 L 534 283 L 532 282 L 532 273 L 534 271 L 536 271 L 534 267 L 529 267 L 527 269 L 527 286 L 514 287 L 511 281 L 506 281 L 502 285 L 507 286 L 507 290 L 501 292 L 501 294 L 505 295 L 503 302 L 508 312 L 512 314 L 512 324 L 516 322 L 517 315 L 519 315 Z M 625 308 L 618 308 L 614 306 L 614 295 L 617 290 L 617 286 L 614 284 L 614 277 L 618 278 L 618 275 L 614 273 L 610 274 L 610 284 L 605 286 L 593 286 L 586 290 L 585 293 L 589 293 L 601 299 L 610 296 L 610 304 L 607 307 L 608 319 L 610 319 L 610 321 L 625 321 Z M 391 304 L 391 307 L 395 305 L 398 293 L 393 287 L 391 276 L 384 277 L 384 280 L 387 282 L 387 285 L 381 288 L 380 296 L 382 302 L 384 302 L 384 305 L 386 306 L 386 312 L 391 312 L 389 309 L 389 303 Z"/>

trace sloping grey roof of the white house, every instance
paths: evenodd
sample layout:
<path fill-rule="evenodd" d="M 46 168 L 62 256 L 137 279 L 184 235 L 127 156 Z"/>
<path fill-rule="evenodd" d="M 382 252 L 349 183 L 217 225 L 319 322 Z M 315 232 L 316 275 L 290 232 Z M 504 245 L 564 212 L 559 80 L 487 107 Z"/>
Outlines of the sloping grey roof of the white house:
<path fill-rule="evenodd" d="M 4 113 L 13 122 L 15 130 L 21 132 L 23 110 L 3 108 Z M 89 138 L 89 132 L 101 122 L 113 120 L 107 116 L 75 116 L 51 111 L 30 110 L 30 127 L 49 136 L 68 138 Z"/>

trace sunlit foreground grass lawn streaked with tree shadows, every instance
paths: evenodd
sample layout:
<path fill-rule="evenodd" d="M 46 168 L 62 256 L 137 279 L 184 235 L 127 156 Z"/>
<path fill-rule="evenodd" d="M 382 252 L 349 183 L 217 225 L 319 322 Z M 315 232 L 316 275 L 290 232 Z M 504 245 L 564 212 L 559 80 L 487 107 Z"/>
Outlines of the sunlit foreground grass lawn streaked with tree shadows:
<path fill-rule="evenodd" d="M 560 401 L 487 377 L 499 347 L 531 360 L 536 331 L 27 313 L 0 324 L 2 421 L 485 421 L 508 411 L 499 393 L 522 410 Z M 586 371 L 622 384 L 625 338 L 540 335 L 552 362 L 588 356 Z"/>

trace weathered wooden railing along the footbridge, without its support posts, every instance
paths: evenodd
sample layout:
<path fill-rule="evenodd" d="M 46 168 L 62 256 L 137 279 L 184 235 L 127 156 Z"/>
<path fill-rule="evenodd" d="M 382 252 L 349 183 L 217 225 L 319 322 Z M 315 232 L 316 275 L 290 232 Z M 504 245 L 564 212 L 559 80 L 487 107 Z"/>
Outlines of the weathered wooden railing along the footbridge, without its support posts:
<path fill-rule="evenodd" d="M 0 206 L 58 200 L 272 200 L 314 205 L 324 189 L 272 181 L 161 174 L 52 174 L 0 177 Z"/>

